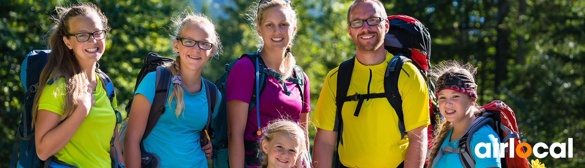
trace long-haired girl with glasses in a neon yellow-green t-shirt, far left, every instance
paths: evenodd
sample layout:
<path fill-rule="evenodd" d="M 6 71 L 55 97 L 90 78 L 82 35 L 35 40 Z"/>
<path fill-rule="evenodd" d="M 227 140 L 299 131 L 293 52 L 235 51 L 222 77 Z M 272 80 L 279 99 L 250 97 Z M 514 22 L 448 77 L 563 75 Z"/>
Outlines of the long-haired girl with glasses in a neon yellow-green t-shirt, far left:
<path fill-rule="evenodd" d="M 116 98 L 110 102 L 96 73 L 105 50 L 108 19 L 91 3 L 57 6 L 49 37 L 51 53 L 40 75 L 33 105 L 36 153 L 77 167 L 111 167 L 122 162 L 115 131 Z M 53 81 L 53 83 L 47 81 Z M 49 164 L 49 163 L 45 163 Z M 116 163 L 117 164 L 117 163 Z"/>

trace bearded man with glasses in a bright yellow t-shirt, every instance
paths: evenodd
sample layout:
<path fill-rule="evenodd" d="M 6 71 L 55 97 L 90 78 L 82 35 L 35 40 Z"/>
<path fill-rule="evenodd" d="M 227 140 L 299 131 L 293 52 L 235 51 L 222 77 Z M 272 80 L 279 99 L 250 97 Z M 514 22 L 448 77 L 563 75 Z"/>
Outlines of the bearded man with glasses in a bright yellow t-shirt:
<path fill-rule="evenodd" d="M 384 50 L 387 15 L 377 0 L 357 0 L 347 12 L 347 32 L 356 44 L 355 60 L 345 96 L 337 97 L 339 67 L 327 74 L 312 122 L 318 128 L 313 149 L 315 167 L 422 167 L 426 156 L 428 91 L 412 63 L 399 69 L 398 93 L 402 97 L 400 119 L 390 105 L 384 77 L 393 54 Z M 350 66 L 351 67 L 351 66 Z M 364 95 L 386 97 L 364 98 Z M 340 102 L 341 114 L 338 114 Z M 399 128 L 402 125 L 404 128 Z M 405 133 L 401 133 L 405 132 Z M 338 139 L 339 140 L 336 140 Z M 338 144 L 339 142 L 339 144 Z M 333 154 L 338 146 L 338 156 Z"/>

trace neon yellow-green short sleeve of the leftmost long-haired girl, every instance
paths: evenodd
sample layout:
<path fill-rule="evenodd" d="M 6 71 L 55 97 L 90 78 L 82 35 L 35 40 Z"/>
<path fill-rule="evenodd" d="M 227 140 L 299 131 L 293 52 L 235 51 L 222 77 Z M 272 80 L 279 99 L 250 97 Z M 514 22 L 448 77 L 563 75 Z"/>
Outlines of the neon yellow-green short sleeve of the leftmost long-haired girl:
<path fill-rule="evenodd" d="M 63 115 L 63 101 L 66 94 L 65 78 L 59 78 L 53 84 L 47 84 L 39 98 L 39 108 Z"/>

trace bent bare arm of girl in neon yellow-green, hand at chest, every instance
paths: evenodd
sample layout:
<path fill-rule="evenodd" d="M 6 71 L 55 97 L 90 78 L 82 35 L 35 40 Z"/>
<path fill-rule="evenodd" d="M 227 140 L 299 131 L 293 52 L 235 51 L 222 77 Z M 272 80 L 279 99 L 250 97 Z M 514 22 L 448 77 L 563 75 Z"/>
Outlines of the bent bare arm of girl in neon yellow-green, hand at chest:
<path fill-rule="evenodd" d="M 35 126 L 35 143 L 36 152 L 41 160 L 47 160 L 50 156 L 55 155 L 59 150 L 73 138 L 75 131 L 79 128 L 85 116 L 94 106 L 94 94 L 92 89 L 86 87 L 87 92 L 81 99 L 81 103 L 67 119 L 59 124 L 61 115 L 46 109 L 40 109 L 37 112 Z"/>

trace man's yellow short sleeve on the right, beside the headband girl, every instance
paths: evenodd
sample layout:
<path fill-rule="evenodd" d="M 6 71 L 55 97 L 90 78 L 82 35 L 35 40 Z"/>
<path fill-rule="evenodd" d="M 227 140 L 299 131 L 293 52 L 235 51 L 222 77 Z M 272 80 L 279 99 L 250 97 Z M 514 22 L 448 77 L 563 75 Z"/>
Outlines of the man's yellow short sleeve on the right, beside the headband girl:
<path fill-rule="evenodd" d="M 402 112 L 406 131 L 430 125 L 429 94 L 421 73 L 412 63 L 402 66 L 398 78 L 398 91 L 402 96 Z"/>

